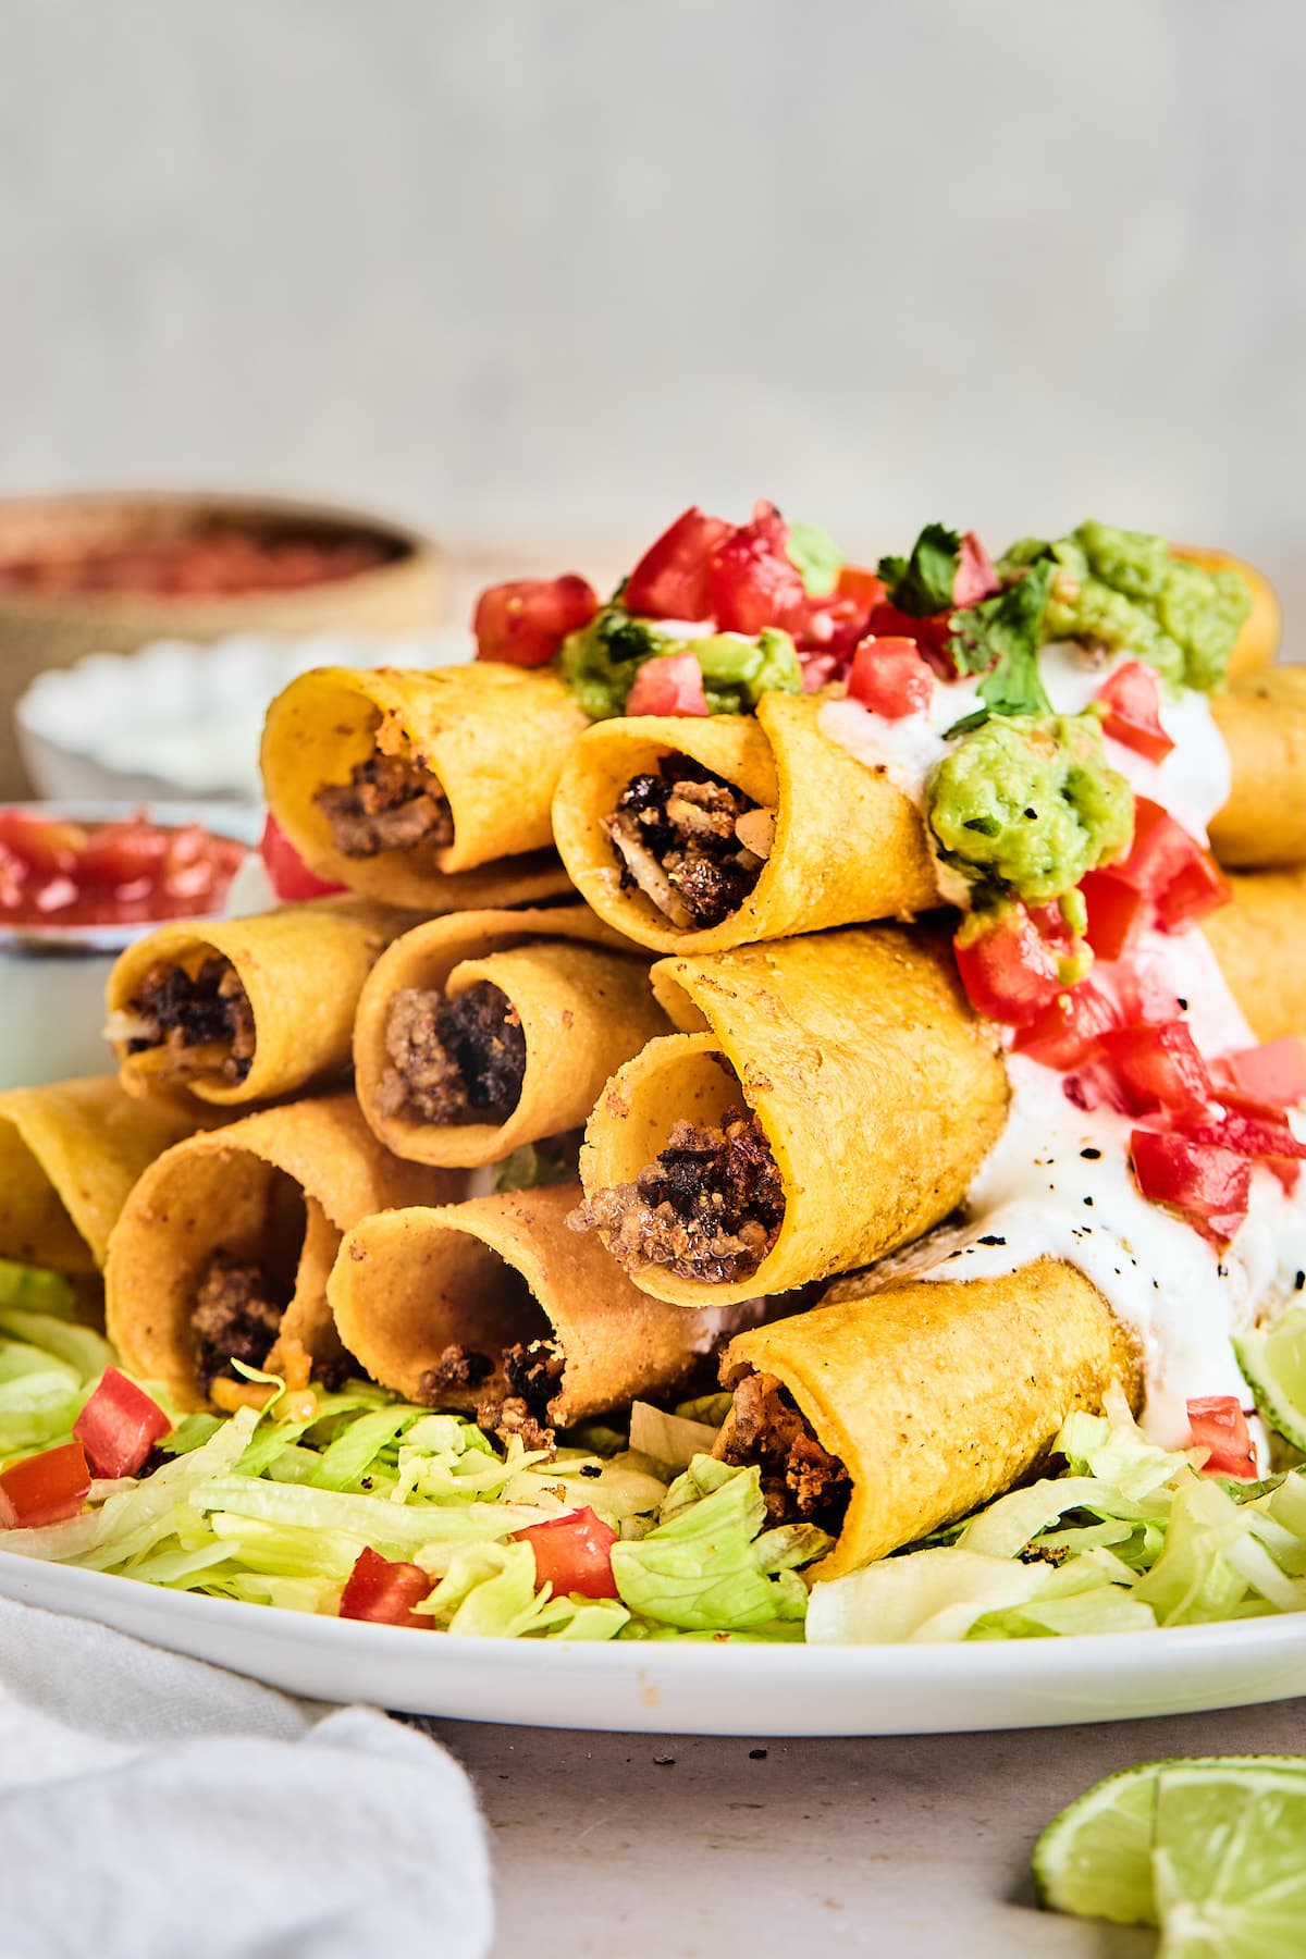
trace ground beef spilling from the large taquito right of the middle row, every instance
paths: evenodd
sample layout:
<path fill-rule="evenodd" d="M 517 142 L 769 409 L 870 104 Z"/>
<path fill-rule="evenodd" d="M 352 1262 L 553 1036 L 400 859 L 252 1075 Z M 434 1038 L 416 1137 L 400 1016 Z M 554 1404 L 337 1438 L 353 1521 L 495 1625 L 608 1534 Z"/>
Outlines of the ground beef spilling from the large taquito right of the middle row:
<path fill-rule="evenodd" d="M 677 1123 L 634 1183 L 595 1191 L 570 1222 L 597 1226 L 623 1266 L 728 1283 L 758 1269 L 783 1215 L 785 1187 L 762 1124 L 726 1109 L 715 1128 Z"/>

